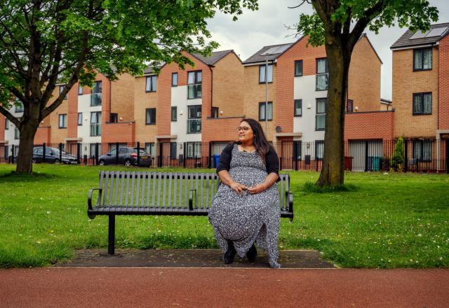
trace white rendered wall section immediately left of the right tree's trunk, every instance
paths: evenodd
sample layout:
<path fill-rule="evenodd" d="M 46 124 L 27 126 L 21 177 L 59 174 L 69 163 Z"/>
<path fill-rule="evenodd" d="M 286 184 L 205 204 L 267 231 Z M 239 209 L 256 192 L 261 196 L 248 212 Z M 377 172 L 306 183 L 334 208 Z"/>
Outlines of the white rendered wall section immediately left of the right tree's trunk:
<path fill-rule="evenodd" d="M 302 99 L 302 116 L 293 118 L 293 132 L 301 132 L 302 137 L 295 140 L 324 140 L 324 131 L 315 130 L 316 99 L 327 96 L 328 91 L 315 90 L 315 75 L 295 77 L 293 97 Z"/>

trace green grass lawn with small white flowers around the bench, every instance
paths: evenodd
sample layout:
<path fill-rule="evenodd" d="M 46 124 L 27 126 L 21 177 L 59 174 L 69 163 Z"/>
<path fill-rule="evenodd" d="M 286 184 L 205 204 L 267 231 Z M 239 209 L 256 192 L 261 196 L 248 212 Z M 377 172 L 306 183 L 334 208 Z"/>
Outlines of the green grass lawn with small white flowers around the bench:
<path fill-rule="evenodd" d="M 107 247 L 107 216 L 88 218 L 87 194 L 101 169 L 124 167 L 40 164 L 31 176 L 13 169 L 0 165 L 0 267 Z M 447 174 L 347 173 L 351 189 L 337 193 L 305 188 L 316 172 L 290 174 L 295 219 L 281 220 L 281 249 L 316 249 L 342 267 L 449 267 Z M 217 246 L 206 217 L 117 216 L 116 248 Z"/>

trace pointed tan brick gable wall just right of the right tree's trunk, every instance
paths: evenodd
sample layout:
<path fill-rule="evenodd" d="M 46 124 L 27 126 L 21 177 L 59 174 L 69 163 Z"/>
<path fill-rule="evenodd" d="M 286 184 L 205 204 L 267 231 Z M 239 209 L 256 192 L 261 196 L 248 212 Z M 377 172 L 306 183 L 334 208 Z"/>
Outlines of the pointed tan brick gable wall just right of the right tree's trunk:
<path fill-rule="evenodd" d="M 362 36 L 351 56 L 348 76 L 348 99 L 354 100 L 354 110 L 380 110 L 380 66 L 381 62 L 368 38 Z"/>

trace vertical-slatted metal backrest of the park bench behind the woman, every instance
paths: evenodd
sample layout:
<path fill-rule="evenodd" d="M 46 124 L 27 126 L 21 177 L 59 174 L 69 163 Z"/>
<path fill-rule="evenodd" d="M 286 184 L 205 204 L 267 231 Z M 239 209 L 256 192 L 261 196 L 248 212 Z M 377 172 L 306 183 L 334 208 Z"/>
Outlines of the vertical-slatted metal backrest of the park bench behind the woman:
<path fill-rule="evenodd" d="M 286 192 L 290 190 L 288 174 L 279 174 L 279 207 L 286 211 Z M 103 207 L 154 207 L 207 209 L 220 186 L 215 173 L 177 172 L 100 172 Z"/>

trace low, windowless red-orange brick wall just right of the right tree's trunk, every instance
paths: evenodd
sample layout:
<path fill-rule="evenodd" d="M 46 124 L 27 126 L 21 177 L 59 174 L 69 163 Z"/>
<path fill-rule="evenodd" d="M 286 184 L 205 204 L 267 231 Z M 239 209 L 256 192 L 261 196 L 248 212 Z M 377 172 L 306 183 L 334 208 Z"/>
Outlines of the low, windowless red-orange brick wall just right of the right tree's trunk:
<path fill-rule="evenodd" d="M 394 111 L 346 113 L 344 140 L 393 139 Z"/>

